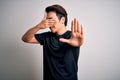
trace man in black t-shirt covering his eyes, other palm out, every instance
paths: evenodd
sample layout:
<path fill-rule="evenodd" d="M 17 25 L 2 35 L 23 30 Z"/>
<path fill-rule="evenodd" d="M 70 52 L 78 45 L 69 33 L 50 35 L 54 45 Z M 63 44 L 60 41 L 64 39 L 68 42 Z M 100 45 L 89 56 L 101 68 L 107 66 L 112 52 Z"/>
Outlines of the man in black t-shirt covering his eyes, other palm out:
<path fill-rule="evenodd" d="M 43 45 L 44 80 L 78 80 L 79 48 L 83 44 L 83 28 L 75 18 L 71 31 L 66 29 L 67 12 L 60 5 L 48 6 L 43 20 L 22 37 L 27 43 Z M 49 28 L 49 32 L 36 34 Z"/>

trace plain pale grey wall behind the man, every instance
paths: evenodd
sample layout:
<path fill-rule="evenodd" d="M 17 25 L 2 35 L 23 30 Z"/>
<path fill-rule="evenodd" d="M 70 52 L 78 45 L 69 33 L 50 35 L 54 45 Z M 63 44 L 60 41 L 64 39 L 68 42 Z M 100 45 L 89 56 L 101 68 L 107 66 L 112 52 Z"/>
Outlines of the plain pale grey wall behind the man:
<path fill-rule="evenodd" d="M 21 37 L 52 4 L 67 10 L 68 29 L 75 17 L 84 26 L 79 80 L 120 80 L 120 0 L 0 0 L 0 80 L 43 79 L 42 46 Z"/>

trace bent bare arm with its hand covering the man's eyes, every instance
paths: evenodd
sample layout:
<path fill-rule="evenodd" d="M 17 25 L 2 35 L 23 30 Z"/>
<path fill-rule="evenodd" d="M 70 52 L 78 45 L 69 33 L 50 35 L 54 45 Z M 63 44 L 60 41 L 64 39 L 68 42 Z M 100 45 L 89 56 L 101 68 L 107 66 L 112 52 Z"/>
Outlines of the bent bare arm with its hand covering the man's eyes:
<path fill-rule="evenodd" d="M 30 28 L 23 36 L 22 40 L 26 43 L 39 43 L 35 38 L 35 33 L 41 29 L 53 26 L 54 21 L 52 19 L 46 19 L 44 16 L 43 20 L 33 28 Z"/>

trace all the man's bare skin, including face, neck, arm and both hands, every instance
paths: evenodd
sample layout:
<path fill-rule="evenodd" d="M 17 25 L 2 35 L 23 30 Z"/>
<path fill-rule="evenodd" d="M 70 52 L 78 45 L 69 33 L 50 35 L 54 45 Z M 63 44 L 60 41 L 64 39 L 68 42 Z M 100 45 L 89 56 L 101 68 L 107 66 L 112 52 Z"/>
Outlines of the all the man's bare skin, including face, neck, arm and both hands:
<path fill-rule="evenodd" d="M 64 25 L 65 18 L 62 17 L 60 20 L 58 19 L 55 12 L 51 11 L 44 16 L 42 21 L 37 24 L 35 27 L 30 28 L 22 37 L 22 40 L 26 43 L 37 43 L 39 42 L 35 39 L 34 34 L 42 29 L 50 28 L 51 32 L 56 33 L 57 35 L 64 34 L 67 29 Z M 68 43 L 71 46 L 81 46 L 84 41 L 83 27 L 79 23 L 79 21 L 74 18 L 71 22 L 71 37 L 69 39 L 60 38 L 59 41 Z"/>

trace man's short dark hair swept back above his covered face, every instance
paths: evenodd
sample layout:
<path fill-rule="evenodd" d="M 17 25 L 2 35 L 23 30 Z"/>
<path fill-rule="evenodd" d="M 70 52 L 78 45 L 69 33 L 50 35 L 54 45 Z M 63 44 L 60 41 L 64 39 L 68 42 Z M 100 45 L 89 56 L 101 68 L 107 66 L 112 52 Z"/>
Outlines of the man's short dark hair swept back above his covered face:
<path fill-rule="evenodd" d="M 66 12 L 66 10 L 62 6 L 60 6 L 58 4 L 51 5 L 51 6 L 46 7 L 45 11 L 47 13 L 50 12 L 50 11 L 54 11 L 56 13 L 56 15 L 57 15 L 59 20 L 62 17 L 65 17 L 65 23 L 64 24 L 65 24 L 65 26 L 67 25 L 67 21 L 68 21 L 68 19 L 67 19 L 67 12 Z"/>

